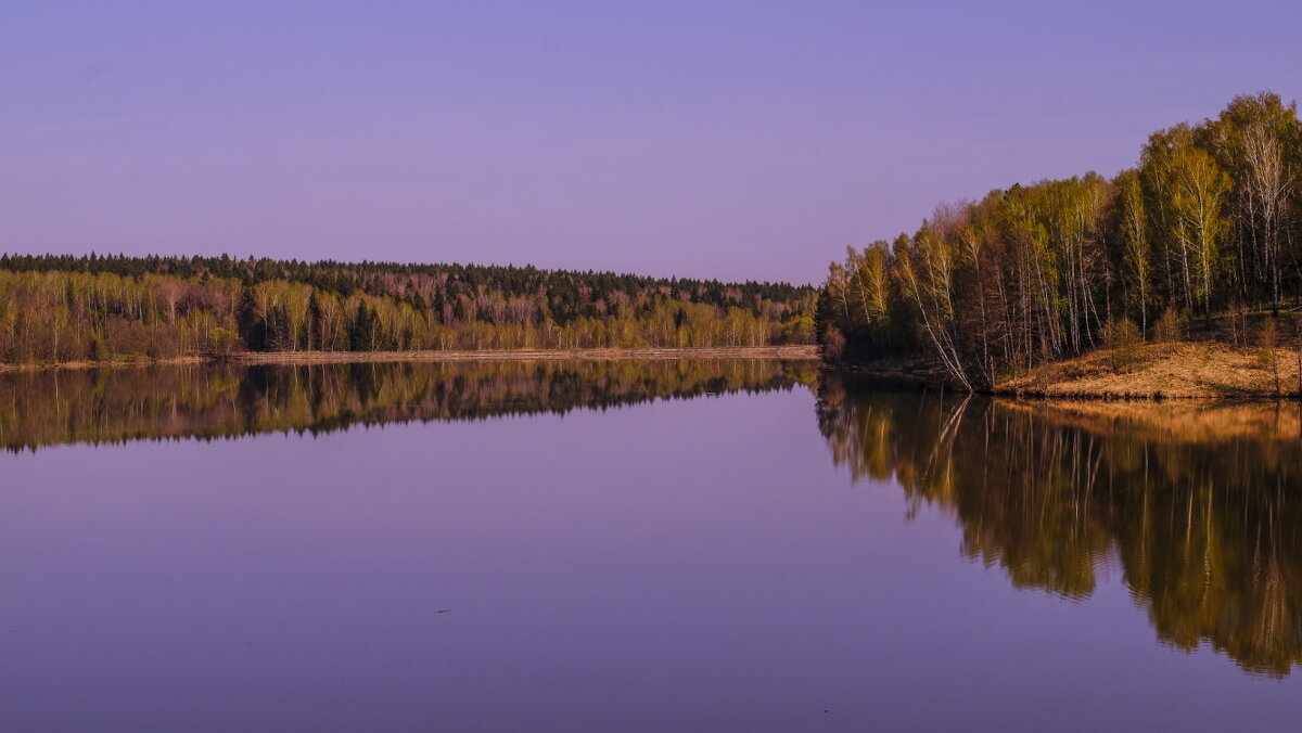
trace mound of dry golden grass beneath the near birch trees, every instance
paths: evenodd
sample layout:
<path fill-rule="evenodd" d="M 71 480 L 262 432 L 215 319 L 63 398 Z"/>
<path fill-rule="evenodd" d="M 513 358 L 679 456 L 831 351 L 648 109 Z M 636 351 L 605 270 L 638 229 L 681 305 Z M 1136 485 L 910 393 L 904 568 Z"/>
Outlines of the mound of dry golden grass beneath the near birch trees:
<path fill-rule="evenodd" d="M 1224 344 L 1147 344 L 1117 368 L 1107 349 L 1043 365 L 995 385 L 995 392 L 1038 397 L 1207 398 L 1273 397 L 1298 392 L 1298 357 L 1275 349 L 1280 389 L 1266 353 Z"/>

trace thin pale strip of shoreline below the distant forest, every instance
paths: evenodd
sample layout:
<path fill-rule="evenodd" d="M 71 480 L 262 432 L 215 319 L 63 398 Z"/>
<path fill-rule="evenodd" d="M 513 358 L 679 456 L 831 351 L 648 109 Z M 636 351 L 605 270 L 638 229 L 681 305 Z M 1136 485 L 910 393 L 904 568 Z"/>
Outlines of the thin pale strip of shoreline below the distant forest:
<path fill-rule="evenodd" d="M 668 359 L 789 359 L 814 361 L 819 349 L 798 346 L 720 346 L 700 349 L 517 349 L 506 352 L 242 352 L 224 359 L 174 357 L 165 359 L 76 361 L 0 365 L 0 371 L 116 368 L 148 365 L 197 365 L 224 361 L 237 365 L 316 365 L 368 362 L 467 361 L 668 361 Z"/>

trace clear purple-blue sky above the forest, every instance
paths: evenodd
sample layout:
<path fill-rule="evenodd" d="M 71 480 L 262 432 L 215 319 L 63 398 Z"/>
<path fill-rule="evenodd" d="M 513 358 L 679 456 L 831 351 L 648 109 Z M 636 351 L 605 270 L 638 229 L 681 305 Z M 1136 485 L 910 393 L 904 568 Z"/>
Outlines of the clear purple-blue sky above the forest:
<path fill-rule="evenodd" d="M 0 3 L 0 251 L 822 280 L 1302 98 L 1302 3 Z"/>

